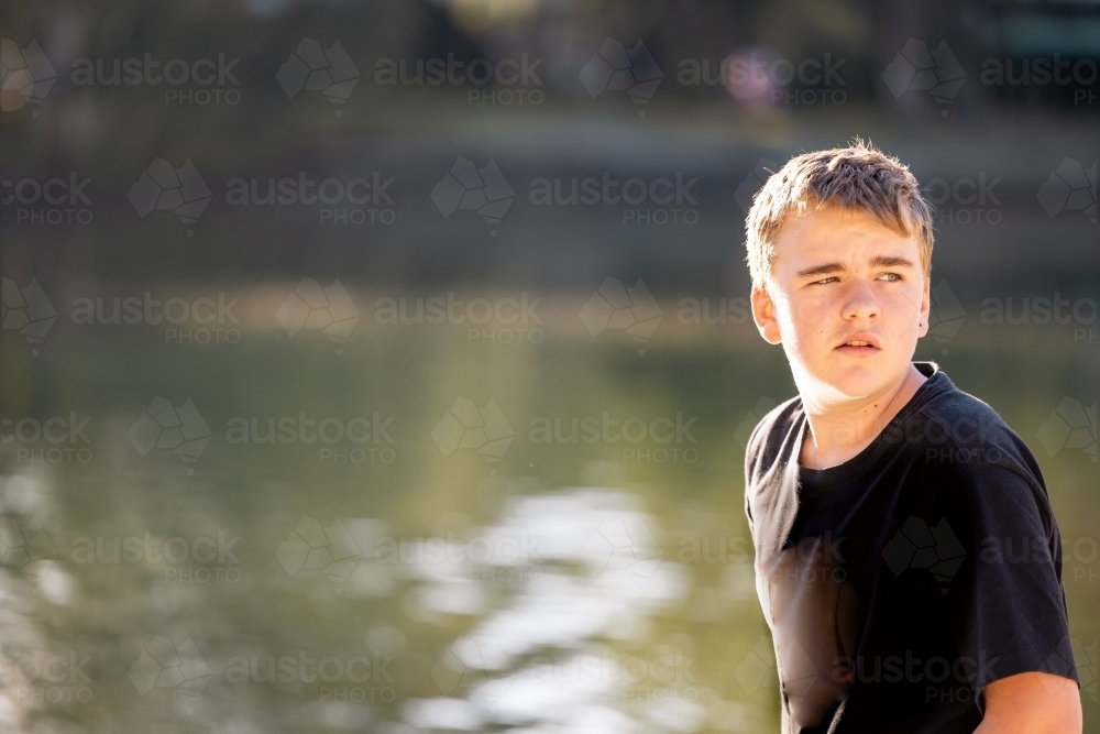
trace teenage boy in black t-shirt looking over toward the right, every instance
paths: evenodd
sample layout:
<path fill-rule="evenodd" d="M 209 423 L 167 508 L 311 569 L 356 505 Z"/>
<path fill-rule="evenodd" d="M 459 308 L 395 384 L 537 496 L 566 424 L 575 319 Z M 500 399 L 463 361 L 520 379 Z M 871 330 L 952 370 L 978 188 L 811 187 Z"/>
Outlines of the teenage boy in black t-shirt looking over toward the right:
<path fill-rule="evenodd" d="M 747 229 L 752 316 L 799 388 L 745 457 L 783 732 L 1079 734 L 1038 465 L 989 405 L 911 361 L 933 245 L 916 179 L 858 139 L 799 155 Z"/>

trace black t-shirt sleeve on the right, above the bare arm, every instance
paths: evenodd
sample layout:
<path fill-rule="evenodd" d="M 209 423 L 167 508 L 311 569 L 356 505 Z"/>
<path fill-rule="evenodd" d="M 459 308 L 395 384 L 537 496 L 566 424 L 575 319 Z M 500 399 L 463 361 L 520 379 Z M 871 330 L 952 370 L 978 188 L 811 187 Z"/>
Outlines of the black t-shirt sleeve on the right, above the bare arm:
<path fill-rule="evenodd" d="M 1028 671 L 1080 684 L 1045 492 L 1005 467 L 975 465 L 948 484 L 941 508 L 966 552 L 941 604 L 975 691 Z"/>

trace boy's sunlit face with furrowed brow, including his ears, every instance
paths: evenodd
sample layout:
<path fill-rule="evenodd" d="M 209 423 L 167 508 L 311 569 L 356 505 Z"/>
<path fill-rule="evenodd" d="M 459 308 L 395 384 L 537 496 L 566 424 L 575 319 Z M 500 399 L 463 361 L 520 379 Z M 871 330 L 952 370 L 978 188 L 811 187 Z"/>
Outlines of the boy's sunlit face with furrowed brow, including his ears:
<path fill-rule="evenodd" d="M 803 396 L 843 404 L 895 385 L 928 332 L 916 240 L 866 211 L 826 208 L 784 222 L 776 250 L 752 316 L 766 340 L 783 344 Z"/>

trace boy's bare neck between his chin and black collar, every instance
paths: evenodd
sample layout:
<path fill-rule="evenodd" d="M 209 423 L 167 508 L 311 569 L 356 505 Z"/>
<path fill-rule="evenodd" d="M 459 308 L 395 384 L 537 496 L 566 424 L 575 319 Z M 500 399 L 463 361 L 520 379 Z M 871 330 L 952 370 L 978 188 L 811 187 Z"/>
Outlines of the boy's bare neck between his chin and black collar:
<path fill-rule="evenodd" d="M 807 469 L 842 464 L 870 446 L 928 379 L 910 363 L 882 394 L 856 405 L 821 408 L 803 399 L 809 421 L 799 463 Z"/>

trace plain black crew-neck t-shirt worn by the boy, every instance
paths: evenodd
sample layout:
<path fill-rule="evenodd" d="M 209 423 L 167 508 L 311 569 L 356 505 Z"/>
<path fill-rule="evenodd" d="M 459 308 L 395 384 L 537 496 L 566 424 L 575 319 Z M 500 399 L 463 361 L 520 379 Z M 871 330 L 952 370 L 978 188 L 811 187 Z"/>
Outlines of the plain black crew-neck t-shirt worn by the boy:
<path fill-rule="evenodd" d="M 745 458 L 757 592 L 783 732 L 972 732 L 989 683 L 1080 683 L 1062 538 L 1031 451 L 934 362 L 859 454 L 799 465 L 802 401 L 760 421 Z"/>

